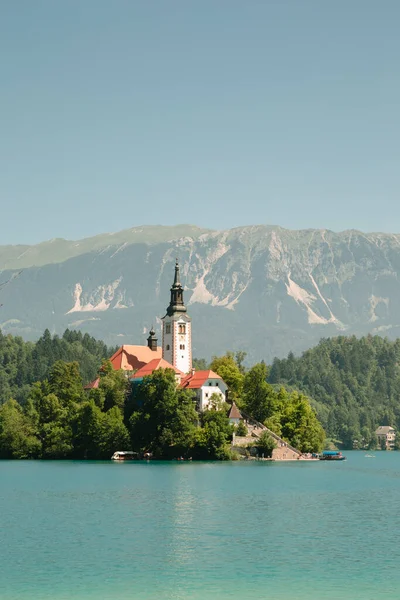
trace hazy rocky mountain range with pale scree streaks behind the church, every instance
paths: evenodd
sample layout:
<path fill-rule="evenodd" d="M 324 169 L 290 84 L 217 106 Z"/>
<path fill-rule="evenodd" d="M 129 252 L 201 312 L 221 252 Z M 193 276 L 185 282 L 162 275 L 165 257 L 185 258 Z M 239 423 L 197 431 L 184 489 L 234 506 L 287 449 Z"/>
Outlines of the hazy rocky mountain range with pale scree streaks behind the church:
<path fill-rule="evenodd" d="M 0 247 L 0 284 L 12 278 L 0 288 L 0 327 L 25 339 L 70 327 L 145 343 L 152 324 L 160 333 L 176 256 L 194 356 L 243 349 L 270 361 L 321 337 L 400 333 L 400 235 L 272 226 L 141 227 Z"/>

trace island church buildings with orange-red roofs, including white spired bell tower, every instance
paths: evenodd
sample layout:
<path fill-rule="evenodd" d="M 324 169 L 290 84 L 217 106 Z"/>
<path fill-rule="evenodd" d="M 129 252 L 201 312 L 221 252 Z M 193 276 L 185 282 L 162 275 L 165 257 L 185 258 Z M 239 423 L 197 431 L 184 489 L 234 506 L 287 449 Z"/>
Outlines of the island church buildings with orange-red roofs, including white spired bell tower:
<path fill-rule="evenodd" d="M 183 300 L 184 289 L 180 281 L 179 263 L 176 260 L 174 281 L 170 289 L 170 303 L 161 319 L 162 341 L 153 328 L 147 338 L 147 346 L 123 345 L 110 358 L 114 369 L 122 369 L 132 383 L 139 383 L 143 377 L 157 369 L 173 369 L 177 385 L 192 390 L 196 395 L 200 411 L 210 408 L 218 398 L 226 401 L 227 385 L 211 370 L 195 371 L 192 368 L 192 319 L 187 313 Z M 86 386 L 96 388 L 99 379 Z"/>

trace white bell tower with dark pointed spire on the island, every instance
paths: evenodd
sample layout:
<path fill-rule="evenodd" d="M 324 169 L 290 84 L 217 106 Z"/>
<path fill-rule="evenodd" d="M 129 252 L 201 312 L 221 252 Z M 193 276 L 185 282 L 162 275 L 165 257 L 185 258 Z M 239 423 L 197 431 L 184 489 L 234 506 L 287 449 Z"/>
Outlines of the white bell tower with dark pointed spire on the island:
<path fill-rule="evenodd" d="M 192 371 L 192 319 L 183 303 L 179 264 L 176 259 L 171 301 L 162 318 L 162 356 L 183 373 Z"/>

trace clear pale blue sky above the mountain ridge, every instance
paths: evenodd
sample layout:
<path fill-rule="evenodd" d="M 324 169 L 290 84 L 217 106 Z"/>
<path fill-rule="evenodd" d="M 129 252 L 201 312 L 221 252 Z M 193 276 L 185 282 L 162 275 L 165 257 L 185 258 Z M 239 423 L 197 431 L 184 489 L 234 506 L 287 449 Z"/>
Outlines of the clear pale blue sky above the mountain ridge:
<path fill-rule="evenodd" d="M 400 231 L 399 0 L 0 0 L 0 244 Z"/>

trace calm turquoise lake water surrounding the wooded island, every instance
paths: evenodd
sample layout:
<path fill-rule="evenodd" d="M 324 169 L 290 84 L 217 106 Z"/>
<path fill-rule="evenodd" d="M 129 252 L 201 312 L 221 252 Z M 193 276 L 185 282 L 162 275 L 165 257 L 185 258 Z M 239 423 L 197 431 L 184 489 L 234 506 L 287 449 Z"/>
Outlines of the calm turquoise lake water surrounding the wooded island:
<path fill-rule="evenodd" d="M 398 600 L 400 453 L 0 462 L 1 600 Z"/>

